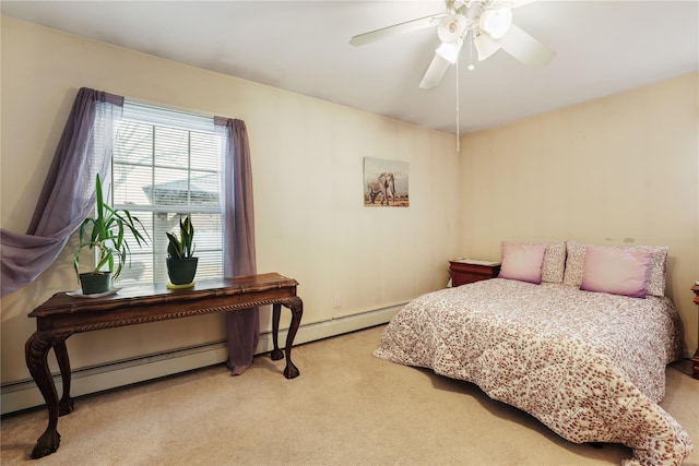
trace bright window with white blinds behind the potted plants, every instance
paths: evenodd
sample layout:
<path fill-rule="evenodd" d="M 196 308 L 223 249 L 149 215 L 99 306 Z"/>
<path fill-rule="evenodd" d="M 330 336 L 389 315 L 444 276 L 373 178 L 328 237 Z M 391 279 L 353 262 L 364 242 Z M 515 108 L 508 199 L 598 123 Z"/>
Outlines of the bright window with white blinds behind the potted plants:
<path fill-rule="evenodd" d="M 179 220 L 187 214 L 194 226 L 197 278 L 223 276 L 224 142 L 214 132 L 213 118 L 127 100 L 123 118 L 115 124 L 114 206 L 128 208 L 151 235 L 143 248 L 129 241 L 131 267 L 125 267 L 119 283 L 167 282 L 165 232 L 179 237 Z"/>

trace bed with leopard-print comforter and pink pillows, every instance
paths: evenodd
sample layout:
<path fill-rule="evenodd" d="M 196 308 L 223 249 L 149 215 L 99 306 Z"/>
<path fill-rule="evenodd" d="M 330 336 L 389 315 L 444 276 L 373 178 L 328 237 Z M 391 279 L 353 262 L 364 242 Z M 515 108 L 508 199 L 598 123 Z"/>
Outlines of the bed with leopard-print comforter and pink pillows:
<path fill-rule="evenodd" d="M 666 255 L 503 242 L 500 277 L 414 299 L 374 355 L 473 382 L 571 442 L 628 445 L 625 465 L 682 464 L 691 440 L 657 405 L 682 346 Z"/>

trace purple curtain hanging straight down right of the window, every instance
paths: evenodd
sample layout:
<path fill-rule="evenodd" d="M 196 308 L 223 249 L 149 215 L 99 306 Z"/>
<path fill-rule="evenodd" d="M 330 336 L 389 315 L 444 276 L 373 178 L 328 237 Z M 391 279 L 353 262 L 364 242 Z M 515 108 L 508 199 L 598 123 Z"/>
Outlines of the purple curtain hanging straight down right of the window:
<path fill-rule="evenodd" d="M 227 141 L 223 164 L 224 275 L 253 275 L 257 273 L 257 265 L 248 132 L 241 120 L 216 117 L 214 123 Z M 258 308 L 228 312 L 226 332 L 230 374 L 239 375 L 252 363 L 258 347 Z"/>

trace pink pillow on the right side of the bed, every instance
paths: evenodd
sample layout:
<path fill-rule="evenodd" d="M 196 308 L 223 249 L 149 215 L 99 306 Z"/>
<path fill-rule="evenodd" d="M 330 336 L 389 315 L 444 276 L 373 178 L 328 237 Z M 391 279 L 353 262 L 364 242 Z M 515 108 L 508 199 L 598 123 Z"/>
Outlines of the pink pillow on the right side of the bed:
<path fill-rule="evenodd" d="M 589 246 L 580 289 L 645 298 L 651 252 Z"/>

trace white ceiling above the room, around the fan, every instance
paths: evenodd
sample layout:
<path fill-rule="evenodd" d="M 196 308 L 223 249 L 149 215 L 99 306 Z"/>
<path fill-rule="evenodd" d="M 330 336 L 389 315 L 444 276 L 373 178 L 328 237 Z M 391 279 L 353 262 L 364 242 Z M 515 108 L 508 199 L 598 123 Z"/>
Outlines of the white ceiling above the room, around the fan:
<path fill-rule="evenodd" d="M 457 70 L 418 88 L 435 28 L 352 36 L 446 11 L 425 1 L 9 1 L 3 15 L 454 133 Z M 556 51 L 529 69 L 498 51 L 459 67 L 460 132 L 699 70 L 699 1 L 537 1 L 513 22 Z"/>

